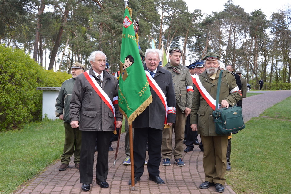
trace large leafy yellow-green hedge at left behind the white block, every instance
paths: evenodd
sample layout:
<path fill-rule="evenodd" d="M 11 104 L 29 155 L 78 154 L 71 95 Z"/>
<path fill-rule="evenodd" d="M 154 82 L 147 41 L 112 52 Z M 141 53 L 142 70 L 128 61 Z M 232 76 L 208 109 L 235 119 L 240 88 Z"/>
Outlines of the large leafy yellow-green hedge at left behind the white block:
<path fill-rule="evenodd" d="M 21 49 L 0 45 L 0 131 L 21 128 L 42 117 L 42 91 L 72 76 L 44 70 Z"/>

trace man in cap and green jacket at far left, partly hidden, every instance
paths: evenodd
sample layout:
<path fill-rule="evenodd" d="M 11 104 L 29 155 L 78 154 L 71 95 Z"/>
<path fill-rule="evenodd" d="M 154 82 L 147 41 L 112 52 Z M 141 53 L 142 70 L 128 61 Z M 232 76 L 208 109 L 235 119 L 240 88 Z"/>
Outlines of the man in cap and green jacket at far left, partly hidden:
<path fill-rule="evenodd" d="M 64 121 L 65 126 L 65 144 L 64 151 L 61 156 L 61 166 L 59 171 L 64 171 L 69 168 L 70 157 L 74 155 L 74 163 L 77 169 L 80 168 L 80 151 L 81 151 L 81 131 L 79 127 L 73 129 L 70 125 L 70 101 L 72 97 L 75 79 L 83 73 L 85 66 L 76 62 L 71 67 L 72 78 L 65 80 L 62 83 L 59 95 L 57 97 L 55 107 L 55 116 Z"/>

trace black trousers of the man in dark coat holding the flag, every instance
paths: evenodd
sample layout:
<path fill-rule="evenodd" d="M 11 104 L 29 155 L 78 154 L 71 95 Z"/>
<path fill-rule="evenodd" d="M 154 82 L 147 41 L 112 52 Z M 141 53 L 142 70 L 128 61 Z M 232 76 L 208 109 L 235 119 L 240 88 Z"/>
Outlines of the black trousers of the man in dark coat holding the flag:
<path fill-rule="evenodd" d="M 159 176 L 162 160 L 162 130 L 153 128 L 134 128 L 133 133 L 134 176 L 141 177 L 146 160 L 146 142 L 148 141 L 148 172 L 150 176 Z"/>

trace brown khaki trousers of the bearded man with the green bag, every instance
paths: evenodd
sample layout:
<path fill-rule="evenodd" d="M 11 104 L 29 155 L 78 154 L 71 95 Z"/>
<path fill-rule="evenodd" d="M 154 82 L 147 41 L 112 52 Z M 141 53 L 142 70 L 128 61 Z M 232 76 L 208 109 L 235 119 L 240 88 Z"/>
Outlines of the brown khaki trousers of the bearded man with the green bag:
<path fill-rule="evenodd" d="M 226 172 L 226 150 L 228 136 L 202 136 L 204 146 L 203 168 L 205 181 L 224 185 Z"/>

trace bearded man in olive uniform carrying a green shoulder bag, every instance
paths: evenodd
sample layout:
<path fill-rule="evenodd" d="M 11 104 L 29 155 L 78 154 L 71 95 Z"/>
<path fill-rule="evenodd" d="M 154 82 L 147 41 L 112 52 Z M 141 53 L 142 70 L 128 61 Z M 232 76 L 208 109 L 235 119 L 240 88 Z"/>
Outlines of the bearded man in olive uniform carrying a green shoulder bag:
<path fill-rule="evenodd" d="M 206 91 L 216 100 L 217 84 L 220 70 L 220 56 L 209 52 L 204 56 L 205 68 L 199 75 L 199 80 Z M 198 80 L 198 81 L 199 81 Z M 210 97 L 210 98 L 211 98 Z M 236 85 L 233 74 L 229 71 L 222 72 L 222 80 L 219 95 L 219 104 L 222 108 L 234 106 L 241 97 L 241 91 Z M 194 89 L 190 124 L 193 131 L 198 130 L 204 146 L 203 168 L 205 182 L 199 187 L 207 189 L 215 185 L 216 192 L 224 192 L 224 177 L 226 172 L 226 149 L 229 134 L 219 135 L 215 132 L 215 124 L 212 112 L 214 110 L 207 104 L 197 87 Z"/>

